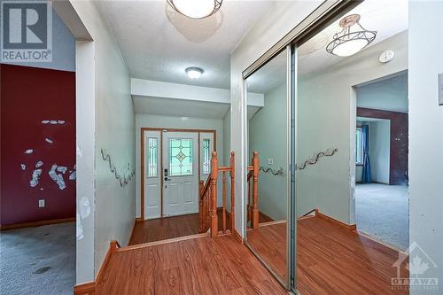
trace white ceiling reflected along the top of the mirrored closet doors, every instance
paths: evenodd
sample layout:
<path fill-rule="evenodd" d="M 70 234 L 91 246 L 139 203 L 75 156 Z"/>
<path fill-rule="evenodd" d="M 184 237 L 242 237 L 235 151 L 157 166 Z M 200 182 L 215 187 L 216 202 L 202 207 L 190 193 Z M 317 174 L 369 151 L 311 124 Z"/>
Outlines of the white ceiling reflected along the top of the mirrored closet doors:
<path fill-rule="evenodd" d="M 361 15 L 361 25 L 368 30 L 377 30 L 377 38 L 367 48 L 386 38 L 408 29 L 407 0 L 365 0 L 346 15 Z M 320 71 L 346 59 L 326 52 L 326 45 L 332 36 L 340 30 L 340 17 L 313 38 L 302 44 L 298 50 L 298 74 Z M 381 53 L 381 52 L 380 52 Z M 262 66 L 247 79 L 248 91 L 265 93 L 286 82 L 286 56 L 280 53 Z"/>

